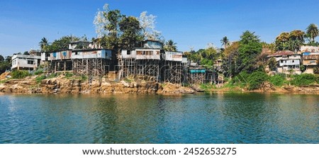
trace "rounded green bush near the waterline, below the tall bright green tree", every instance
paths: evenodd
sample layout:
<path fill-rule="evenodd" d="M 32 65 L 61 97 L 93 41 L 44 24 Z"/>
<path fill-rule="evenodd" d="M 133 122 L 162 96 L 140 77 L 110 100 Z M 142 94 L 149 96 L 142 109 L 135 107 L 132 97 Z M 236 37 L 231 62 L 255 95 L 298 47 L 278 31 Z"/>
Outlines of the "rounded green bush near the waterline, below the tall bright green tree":
<path fill-rule="evenodd" d="M 265 72 L 253 72 L 247 80 L 249 90 L 259 89 L 262 83 L 268 80 L 268 75 Z"/>

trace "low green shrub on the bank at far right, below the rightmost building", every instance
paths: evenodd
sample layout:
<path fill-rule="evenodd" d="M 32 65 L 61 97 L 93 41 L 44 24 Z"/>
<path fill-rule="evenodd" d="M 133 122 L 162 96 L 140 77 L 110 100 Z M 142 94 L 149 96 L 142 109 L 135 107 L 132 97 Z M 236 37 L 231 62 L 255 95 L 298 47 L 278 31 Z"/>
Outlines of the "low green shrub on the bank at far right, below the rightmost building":
<path fill-rule="evenodd" d="M 318 82 L 314 74 L 296 74 L 292 76 L 291 84 L 296 86 L 306 86 Z"/>

